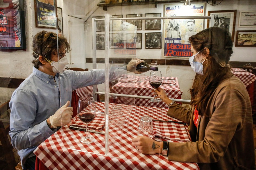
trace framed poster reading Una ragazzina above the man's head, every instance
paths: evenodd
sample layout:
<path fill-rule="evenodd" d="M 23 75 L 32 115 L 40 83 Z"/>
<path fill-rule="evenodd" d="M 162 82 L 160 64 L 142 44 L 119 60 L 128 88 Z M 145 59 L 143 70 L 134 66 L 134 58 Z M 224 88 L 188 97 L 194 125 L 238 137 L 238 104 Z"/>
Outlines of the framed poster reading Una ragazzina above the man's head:
<path fill-rule="evenodd" d="M 56 0 L 34 0 L 35 5 L 35 27 L 57 28 L 57 1 Z"/>

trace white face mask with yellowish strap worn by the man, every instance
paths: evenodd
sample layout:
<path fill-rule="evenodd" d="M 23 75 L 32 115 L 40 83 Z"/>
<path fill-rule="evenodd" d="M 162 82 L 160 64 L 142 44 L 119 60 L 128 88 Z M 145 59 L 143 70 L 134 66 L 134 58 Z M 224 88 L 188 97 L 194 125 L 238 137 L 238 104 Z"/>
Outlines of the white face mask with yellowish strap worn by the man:
<path fill-rule="evenodd" d="M 36 54 L 36 53 L 35 53 Z M 38 55 L 38 54 L 37 54 Z M 39 56 L 39 55 L 38 55 Z M 44 57 L 45 58 L 45 57 Z M 51 63 L 51 66 L 53 66 L 53 73 L 63 73 L 67 68 L 69 67 L 69 60 L 67 59 L 67 56 L 62 57 L 59 61 L 51 61 L 45 58 L 49 63 Z"/>

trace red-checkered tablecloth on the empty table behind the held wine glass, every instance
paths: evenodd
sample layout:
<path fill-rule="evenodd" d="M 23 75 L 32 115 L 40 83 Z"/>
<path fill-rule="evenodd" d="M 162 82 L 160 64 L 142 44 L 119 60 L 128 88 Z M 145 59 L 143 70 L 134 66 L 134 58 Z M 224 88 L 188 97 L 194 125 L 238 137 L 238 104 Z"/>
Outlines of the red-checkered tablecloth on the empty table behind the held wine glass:
<path fill-rule="evenodd" d="M 113 86 L 113 93 L 117 94 L 127 94 L 127 95 L 137 95 L 137 96 L 150 96 L 153 97 L 151 90 L 153 87 L 149 83 L 149 77 L 146 77 L 144 82 L 139 82 L 139 76 L 128 75 L 129 79 L 135 80 L 135 82 L 122 82 L 118 81 L 117 84 Z M 170 84 L 169 79 L 171 79 Z M 175 81 L 175 80 L 176 81 Z M 120 79 L 119 79 L 120 80 Z M 160 88 L 163 88 L 166 92 L 166 95 L 169 98 L 181 99 L 182 91 L 179 88 L 178 78 L 177 77 L 163 77 L 163 82 Z M 167 108 L 164 102 L 160 101 L 158 103 L 151 102 L 150 99 L 140 99 L 140 98 L 129 98 L 129 97 L 117 97 L 115 103 L 127 104 L 127 105 L 136 105 L 136 106 L 149 106 L 149 107 L 161 107 Z"/>

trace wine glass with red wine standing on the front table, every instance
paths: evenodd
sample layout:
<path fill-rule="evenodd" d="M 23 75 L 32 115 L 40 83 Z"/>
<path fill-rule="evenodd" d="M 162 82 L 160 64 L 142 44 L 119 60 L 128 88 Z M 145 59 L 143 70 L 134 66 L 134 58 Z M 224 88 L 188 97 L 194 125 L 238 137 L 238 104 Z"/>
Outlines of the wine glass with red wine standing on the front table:
<path fill-rule="evenodd" d="M 81 97 L 78 100 L 78 117 L 86 123 L 86 137 L 82 137 L 80 141 L 89 144 L 95 141 L 94 137 L 88 135 L 88 123 L 93 121 L 96 116 L 96 105 L 93 97 Z"/>

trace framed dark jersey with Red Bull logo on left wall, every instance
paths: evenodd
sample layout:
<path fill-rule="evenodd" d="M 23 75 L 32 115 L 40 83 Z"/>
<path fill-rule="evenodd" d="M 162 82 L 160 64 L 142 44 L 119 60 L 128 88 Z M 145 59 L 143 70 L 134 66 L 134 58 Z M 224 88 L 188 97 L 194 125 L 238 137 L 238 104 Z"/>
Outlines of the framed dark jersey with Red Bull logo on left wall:
<path fill-rule="evenodd" d="M 0 2 L 0 51 L 26 50 L 23 0 Z"/>

